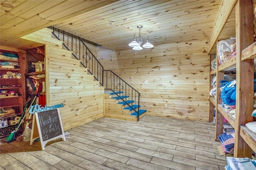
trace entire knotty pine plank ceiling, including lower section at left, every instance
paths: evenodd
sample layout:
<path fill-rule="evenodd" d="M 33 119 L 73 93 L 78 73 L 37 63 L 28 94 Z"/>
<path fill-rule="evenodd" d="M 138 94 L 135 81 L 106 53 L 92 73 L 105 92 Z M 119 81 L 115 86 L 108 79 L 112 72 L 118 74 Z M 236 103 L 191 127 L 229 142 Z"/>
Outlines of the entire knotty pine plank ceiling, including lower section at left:
<path fill-rule="evenodd" d="M 17 37 L 50 25 L 113 50 L 131 49 L 128 43 L 139 33 L 138 25 L 155 47 L 205 41 L 210 40 L 220 4 L 221 0 L 1 0 L 0 43 L 31 48 L 32 43 L 22 45 Z M 224 26 L 228 31 L 219 38 L 235 36 L 234 22 L 231 15 Z"/>

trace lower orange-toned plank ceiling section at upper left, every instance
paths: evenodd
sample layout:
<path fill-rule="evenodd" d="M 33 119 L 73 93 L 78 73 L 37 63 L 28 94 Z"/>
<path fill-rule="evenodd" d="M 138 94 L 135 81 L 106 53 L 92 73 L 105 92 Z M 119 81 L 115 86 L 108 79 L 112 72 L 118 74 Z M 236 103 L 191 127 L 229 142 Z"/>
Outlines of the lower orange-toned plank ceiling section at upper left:
<path fill-rule="evenodd" d="M 20 37 L 116 0 L 0 0 L 0 44 L 18 49 L 40 46 Z"/>

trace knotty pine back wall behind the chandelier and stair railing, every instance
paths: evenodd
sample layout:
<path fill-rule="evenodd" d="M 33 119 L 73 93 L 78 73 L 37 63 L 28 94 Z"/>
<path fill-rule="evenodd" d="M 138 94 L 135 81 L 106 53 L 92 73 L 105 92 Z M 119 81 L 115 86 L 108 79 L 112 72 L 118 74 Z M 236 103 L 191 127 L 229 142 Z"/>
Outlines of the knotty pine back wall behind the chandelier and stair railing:
<path fill-rule="evenodd" d="M 209 120 L 208 42 L 113 51 L 98 47 L 98 59 L 141 94 L 147 115 Z M 165 108 L 167 104 L 167 108 Z"/>

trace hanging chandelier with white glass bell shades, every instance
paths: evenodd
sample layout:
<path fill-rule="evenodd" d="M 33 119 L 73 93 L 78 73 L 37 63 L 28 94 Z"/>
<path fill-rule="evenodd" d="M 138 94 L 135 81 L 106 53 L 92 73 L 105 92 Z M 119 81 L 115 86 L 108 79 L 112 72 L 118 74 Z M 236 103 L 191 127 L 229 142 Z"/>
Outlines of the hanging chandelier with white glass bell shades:
<path fill-rule="evenodd" d="M 137 26 L 137 28 L 142 28 L 142 26 Z M 135 35 L 138 37 L 137 38 L 137 41 L 136 41 L 136 39 L 135 39 Z M 143 35 L 143 36 L 147 36 L 147 35 Z M 142 45 L 142 47 L 140 46 L 141 45 L 141 43 L 142 43 L 142 38 L 143 38 L 143 36 L 140 36 L 140 33 L 139 33 L 139 35 L 138 34 L 134 34 L 134 36 L 133 36 L 133 41 L 131 42 L 131 43 L 129 43 L 128 45 L 130 46 L 130 47 L 133 47 L 132 49 L 134 49 L 134 50 L 141 50 L 141 49 L 143 49 L 142 47 L 144 47 L 144 48 L 152 48 L 152 47 L 154 47 L 154 45 L 152 45 L 150 42 L 149 42 L 149 40 L 147 40 L 147 42 L 144 44 L 144 45 Z M 148 37 L 148 36 L 147 36 Z"/>

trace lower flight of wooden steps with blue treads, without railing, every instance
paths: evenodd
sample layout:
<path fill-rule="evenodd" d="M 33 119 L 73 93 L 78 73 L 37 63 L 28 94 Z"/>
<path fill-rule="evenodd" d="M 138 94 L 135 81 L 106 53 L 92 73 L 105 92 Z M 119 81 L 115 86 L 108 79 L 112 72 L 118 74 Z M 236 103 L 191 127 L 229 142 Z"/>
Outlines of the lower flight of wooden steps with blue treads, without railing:
<path fill-rule="evenodd" d="M 146 115 L 146 110 L 139 110 L 139 117 L 137 118 L 137 113 L 133 109 L 137 109 L 138 105 L 128 106 L 126 103 L 134 103 L 129 99 L 129 96 L 122 95 L 121 92 L 119 96 L 117 96 L 112 91 L 106 91 L 104 94 L 104 103 L 105 103 L 105 114 L 104 117 L 110 117 L 115 119 L 122 119 L 126 121 L 137 121 L 138 118 L 142 119 Z M 126 102 L 124 102 L 125 100 Z"/>

